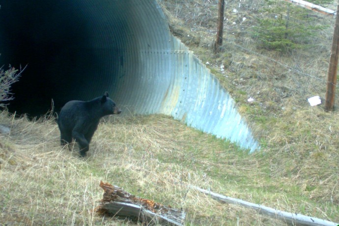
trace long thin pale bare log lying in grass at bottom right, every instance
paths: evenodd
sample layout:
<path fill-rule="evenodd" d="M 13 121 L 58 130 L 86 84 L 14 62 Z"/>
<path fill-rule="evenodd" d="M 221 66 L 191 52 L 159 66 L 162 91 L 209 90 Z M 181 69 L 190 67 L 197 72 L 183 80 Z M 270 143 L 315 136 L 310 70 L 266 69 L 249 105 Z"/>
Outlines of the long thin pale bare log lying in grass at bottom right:
<path fill-rule="evenodd" d="M 195 187 L 195 186 L 191 186 L 191 188 L 196 189 L 203 194 L 210 195 L 212 198 L 218 201 L 249 207 L 249 208 L 256 210 L 260 214 L 264 214 L 269 217 L 276 218 L 278 220 L 284 221 L 287 224 L 304 225 L 304 226 L 338 226 L 339 225 L 338 223 L 325 221 L 325 220 L 314 218 L 314 217 L 308 217 L 308 216 L 304 216 L 304 215 L 296 214 L 296 213 L 288 213 L 288 212 L 284 212 L 281 210 L 266 207 L 263 205 L 258 205 L 258 204 L 254 204 L 248 201 L 243 201 L 241 199 L 222 196 L 222 195 L 219 195 L 219 194 L 216 194 L 216 193 L 213 193 L 213 192 L 210 192 L 210 191 L 207 191 L 207 190 Z"/>

